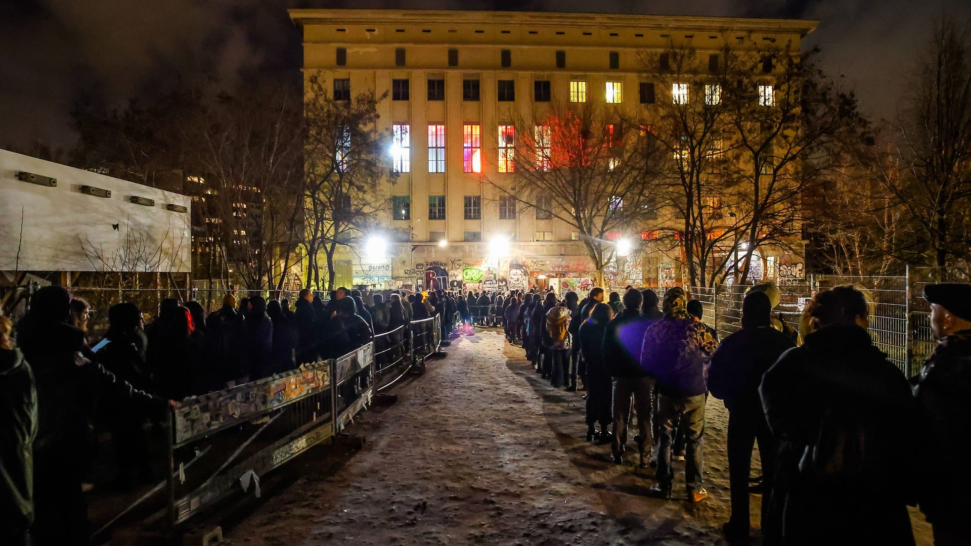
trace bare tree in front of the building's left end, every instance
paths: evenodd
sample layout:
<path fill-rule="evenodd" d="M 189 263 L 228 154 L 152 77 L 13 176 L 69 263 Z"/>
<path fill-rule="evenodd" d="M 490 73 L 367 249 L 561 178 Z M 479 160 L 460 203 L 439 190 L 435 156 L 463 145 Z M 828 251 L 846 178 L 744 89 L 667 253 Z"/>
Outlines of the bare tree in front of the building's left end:
<path fill-rule="evenodd" d="M 322 252 L 326 287 L 333 290 L 338 248 L 351 247 L 369 228 L 379 225 L 379 213 L 388 209 L 379 188 L 385 181 L 393 183 L 397 175 L 383 158 L 390 133 L 376 126 L 377 106 L 386 93 L 376 96 L 365 91 L 341 100 L 344 97 L 335 98 L 327 84 L 320 74 L 309 76 L 305 83 L 303 203 L 310 268 L 305 286 L 324 287 L 318 262 Z"/>

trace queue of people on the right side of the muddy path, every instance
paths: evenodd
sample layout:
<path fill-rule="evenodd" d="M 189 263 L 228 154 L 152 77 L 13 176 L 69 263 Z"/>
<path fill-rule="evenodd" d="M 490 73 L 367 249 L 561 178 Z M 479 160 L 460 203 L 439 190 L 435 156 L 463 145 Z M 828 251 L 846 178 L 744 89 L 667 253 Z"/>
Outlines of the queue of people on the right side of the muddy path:
<path fill-rule="evenodd" d="M 762 544 L 914 544 L 919 505 L 938 546 L 971 544 L 960 470 L 971 396 L 971 285 L 930 285 L 939 340 L 908 381 L 867 332 L 870 301 L 852 286 L 817 293 L 795 328 L 773 308 L 771 284 L 748 290 L 740 329 L 719 343 L 703 305 L 668 289 L 513 292 L 506 336 L 553 387 L 586 390 L 586 440 L 622 464 L 636 416 L 638 464 L 651 491 L 672 498 L 672 461 L 685 462 L 686 498 L 704 488 L 709 394 L 729 413 L 731 543 L 751 539 L 753 447 L 761 462 Z M 902 479 L 895 479 L 900 476 Z"/>

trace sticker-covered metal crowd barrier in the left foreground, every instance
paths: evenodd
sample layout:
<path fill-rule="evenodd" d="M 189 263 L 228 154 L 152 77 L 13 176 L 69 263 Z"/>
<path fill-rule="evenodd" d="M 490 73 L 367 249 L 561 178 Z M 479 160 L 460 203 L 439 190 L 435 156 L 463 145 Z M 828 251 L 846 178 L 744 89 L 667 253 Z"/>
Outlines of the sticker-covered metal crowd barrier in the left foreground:
<path fill-rule="evenodd" d="M 191 396 L 174 408 L 168 512 L 180 524 L 335 435 L 371 402 L 374 344 L 272 377 Z M 237 489 L 239 488 L 239 489 Z"/>

